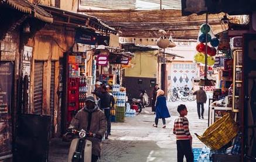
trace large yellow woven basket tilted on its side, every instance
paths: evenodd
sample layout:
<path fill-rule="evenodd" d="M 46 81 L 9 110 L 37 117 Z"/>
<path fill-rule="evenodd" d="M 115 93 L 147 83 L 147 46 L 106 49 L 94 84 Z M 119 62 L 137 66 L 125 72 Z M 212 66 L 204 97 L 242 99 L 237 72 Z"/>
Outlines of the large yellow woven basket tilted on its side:
<path fill-rule="evenodd" d="M 237 135 L 237 132 L 238 127 L 228 113 L 209 126 L 202 136 L 196 133 L 195 135 L 206 146 L 213 150 L 218 150 L 230 142 Z"/>

